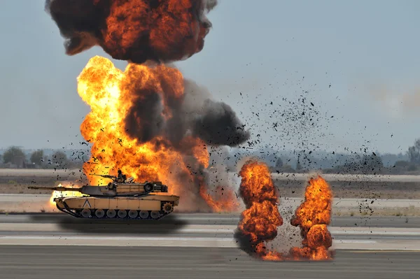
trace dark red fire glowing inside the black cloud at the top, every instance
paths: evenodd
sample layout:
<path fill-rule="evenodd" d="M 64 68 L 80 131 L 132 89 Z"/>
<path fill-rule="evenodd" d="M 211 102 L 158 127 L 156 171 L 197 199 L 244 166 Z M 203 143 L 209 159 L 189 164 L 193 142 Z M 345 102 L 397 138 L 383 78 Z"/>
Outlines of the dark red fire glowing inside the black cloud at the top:
<path fill-rule="evenodd" d="M 151 8 L 150 1 L 113 1 L 106 17 L 106 29 L 101 30 L 104 49 L 118 59 L 149 56 L 172 61 L 200 52 L 208 32 L 208 26 L 197 20 L 203 17 L 197 15 L 202 3 L 192 0 L 155 2 L 160 2 L 159 6 Z M 140 46 L 142 48 L 138 49 Z"/>

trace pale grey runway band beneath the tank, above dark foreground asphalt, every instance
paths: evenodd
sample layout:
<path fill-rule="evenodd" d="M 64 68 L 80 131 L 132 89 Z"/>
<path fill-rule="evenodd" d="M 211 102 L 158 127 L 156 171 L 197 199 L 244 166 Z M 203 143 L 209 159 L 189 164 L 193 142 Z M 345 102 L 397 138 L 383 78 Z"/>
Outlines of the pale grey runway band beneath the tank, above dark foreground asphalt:
<path fill-rule="evenodd" d="M 85 220 L 64 214 L 0 215 L 0 245 L 96 245 L 237 248 L 239 217 L 174 214 L 164 219 Z M 420 218 L 335 217 L 328 227 L 333 248 L 420 250 Z M 300 245 L 288 220 L 279 227 L 282 245 Z"/>

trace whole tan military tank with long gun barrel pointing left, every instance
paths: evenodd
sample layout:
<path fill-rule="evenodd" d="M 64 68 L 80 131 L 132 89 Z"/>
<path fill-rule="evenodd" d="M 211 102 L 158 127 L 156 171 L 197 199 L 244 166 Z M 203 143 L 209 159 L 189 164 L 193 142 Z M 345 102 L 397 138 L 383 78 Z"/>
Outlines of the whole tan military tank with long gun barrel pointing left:
<path fill-rule="evenodd" d="M 160 181 L 136 183 L 133 178 L 121 180 L 116 176 L 102 177 L 111 178 L 113 182 L 105 186 L 29 189 L 80 192 L 83 196 L 61 196 L 53 199 L 59 210 L 80 218 L 159 220 L 172 213 L 174 207 L 179 205 L 179 196 L 153 194 L 168 192 L 167 185 Z"/>

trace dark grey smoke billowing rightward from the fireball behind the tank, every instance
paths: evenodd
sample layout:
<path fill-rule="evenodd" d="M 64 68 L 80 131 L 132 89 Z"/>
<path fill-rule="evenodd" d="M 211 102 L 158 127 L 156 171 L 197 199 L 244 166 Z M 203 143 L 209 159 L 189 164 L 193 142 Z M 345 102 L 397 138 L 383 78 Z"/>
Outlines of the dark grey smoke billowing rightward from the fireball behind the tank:
<path fill-rule="evenodd" d="M 180 149 L 187 146 L 180 143 L 188 135 L 212 146 L 235 146 L 248 140 L 249 131 L 226 103 L 211 100 L 207 89 L 190 80 L 184 80 L 183 97 L 175 98 L 170 82 L 160 76 L 164 92 L 153 91 L 141 79 L 130 79 L 123 85 L 123 90 L 130 90 L 130 95 L 135 96 L 125 118 L 127 133 L 132 138 L 145 143 L 156 136 L 165 136 Z M 162 115 L 163 103 L 172 115 L 167 120 Z"/>

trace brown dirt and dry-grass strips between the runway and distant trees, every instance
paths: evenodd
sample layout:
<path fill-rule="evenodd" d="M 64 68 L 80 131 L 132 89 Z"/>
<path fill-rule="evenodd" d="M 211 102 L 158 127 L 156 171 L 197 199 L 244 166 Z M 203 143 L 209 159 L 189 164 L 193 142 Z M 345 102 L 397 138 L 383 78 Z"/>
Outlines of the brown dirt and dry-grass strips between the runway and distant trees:
<path fill-rule="evenodd" d="M 420 181 L 414 178 L 391 180 L 339 180 L 328 181 L 336 199 L 420 199 Z M 55 187 L 62 185 L 85 185 L 86 180 L 78 171 L 1 171 L 0 170 L 0 194 L 51 194 L 51 190 L 28 189 L 30 186 Z M 283 197 L 304 197 L 306 182 L 304 179 L 276 179 L 274 185 L 279 189 Z M 31 212 L 50 212 L 55 208 L 45 207 L 45 204 L 16 205 L 7 212 L 21 212 L 22 208 Z M 22 207 L 22 208 L 20 208 Z M 29 212 L 27 211 L 27 212 Z M 0 213 L 6 211 L 1 210 Z M 55 211 L 54 211 L 55 212 Z M 393 216 L 420 216 L 420 208 L 383 208 L 375 210 L 358 210 L 357 208 L 335 208 L 333 215 L 360 216 L 360 215 L 393 215 Z"/>

